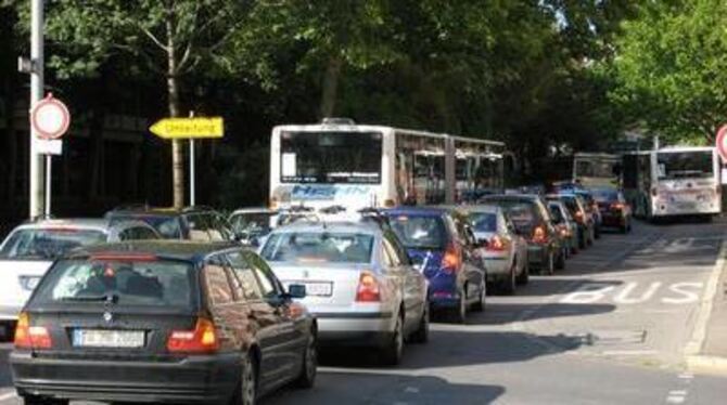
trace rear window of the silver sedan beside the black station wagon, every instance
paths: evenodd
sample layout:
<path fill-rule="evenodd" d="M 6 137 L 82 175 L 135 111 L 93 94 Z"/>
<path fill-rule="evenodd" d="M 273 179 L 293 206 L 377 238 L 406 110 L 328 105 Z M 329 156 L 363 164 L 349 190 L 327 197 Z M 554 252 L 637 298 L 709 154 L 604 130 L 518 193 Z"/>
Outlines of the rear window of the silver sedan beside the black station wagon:
<path fill-rule="evenodd" d="M 370 263 L 373 235 L 343 232 L 272 234 L 262 256 L 272 262 Z"/>

